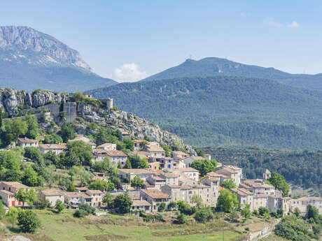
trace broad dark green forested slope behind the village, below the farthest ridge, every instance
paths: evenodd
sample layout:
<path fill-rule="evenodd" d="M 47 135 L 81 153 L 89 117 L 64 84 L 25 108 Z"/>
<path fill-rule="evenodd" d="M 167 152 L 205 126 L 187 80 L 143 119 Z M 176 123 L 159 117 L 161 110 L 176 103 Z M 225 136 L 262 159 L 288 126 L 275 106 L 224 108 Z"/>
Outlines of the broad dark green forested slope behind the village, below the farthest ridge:
<path fill-rule="evenodd" d="M 122 83 L 91 91 L 192 145 L 318 149 L 322 92 L 273 80 L 216 76 Z"/>

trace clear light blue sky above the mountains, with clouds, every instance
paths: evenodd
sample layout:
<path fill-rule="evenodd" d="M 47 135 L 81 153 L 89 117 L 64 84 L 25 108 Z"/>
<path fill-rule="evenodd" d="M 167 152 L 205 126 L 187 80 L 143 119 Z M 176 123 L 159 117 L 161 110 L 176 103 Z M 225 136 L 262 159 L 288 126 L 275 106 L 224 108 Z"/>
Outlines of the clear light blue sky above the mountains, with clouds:
<path fill-rule="evenodd" d="M 322 72 L 321 1 L 1 1 L 1 25 L 43 31 L 95 73 L 133 81 L 188 57 Z"/>

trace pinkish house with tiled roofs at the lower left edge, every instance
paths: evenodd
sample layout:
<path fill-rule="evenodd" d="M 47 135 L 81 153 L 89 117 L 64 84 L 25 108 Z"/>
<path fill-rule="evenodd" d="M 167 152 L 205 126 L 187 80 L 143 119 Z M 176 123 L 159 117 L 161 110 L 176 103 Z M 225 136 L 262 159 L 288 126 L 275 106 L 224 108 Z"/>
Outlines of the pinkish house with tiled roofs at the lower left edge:
<path fill-rule="evenodd" d="M 14 196 L 18 189 L 29 189 L 29 187 L 20 182 L 0 182 L 0 197 L 4 205 L 7 207 L 22 206 L 22 202 L 16 200 Z"/>

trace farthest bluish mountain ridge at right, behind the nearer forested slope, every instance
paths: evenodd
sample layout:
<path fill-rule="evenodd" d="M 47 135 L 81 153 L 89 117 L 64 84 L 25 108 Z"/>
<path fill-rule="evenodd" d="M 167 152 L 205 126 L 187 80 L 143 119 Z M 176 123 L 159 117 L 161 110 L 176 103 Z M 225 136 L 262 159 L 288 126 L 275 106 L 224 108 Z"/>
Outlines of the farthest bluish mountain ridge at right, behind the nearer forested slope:
<path fill-rule="evenodd" d="M 322 74 L 306 75 L 291 74 L 275 68 L 240 64 L 228 59 L 207 57 L 200 60 L 187 59 L 179 66 L 168 68 L 165 71 L 151 75 L 141 81 L 165 80 L 185 77 L 209 76 L 242 76 L 277 80 L 285 85 L 303 89 L 322 90 Z"/>

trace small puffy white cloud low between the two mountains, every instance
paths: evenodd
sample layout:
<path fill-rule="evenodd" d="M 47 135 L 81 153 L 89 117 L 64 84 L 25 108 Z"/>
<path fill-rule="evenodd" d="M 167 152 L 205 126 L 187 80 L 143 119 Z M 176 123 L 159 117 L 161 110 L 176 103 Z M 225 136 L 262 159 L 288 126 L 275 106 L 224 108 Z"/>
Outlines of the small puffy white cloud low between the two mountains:
<path fill-rule="evenodd" d="M 146 71 L 141 71 L 134 63 L 123 64 L 114 70 L 114 78 L 120 82 L 134 82 L 148 77 Z"/>

